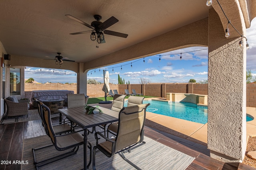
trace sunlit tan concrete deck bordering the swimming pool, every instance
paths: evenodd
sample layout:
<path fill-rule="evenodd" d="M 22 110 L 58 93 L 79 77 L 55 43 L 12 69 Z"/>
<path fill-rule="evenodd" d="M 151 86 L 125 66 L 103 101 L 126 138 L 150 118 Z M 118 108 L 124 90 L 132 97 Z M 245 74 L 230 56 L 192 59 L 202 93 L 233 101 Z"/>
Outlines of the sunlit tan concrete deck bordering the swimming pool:
<path fill-rule="evenodd" d="M 150 100 L 145 98 L 144 100 Z M 152 98 L 154 99 L 154 98 Z M 161 100 L 163 101 L 163 100 Z M 246 113 L 253 116 L 252 121 L 246 122 L 246 132 L 248 136 L 256 136 L 256 108 L 246 107 Z M 146 125 L 155 129 L 165 131 L 167 133 L 194 141 L 203 145 L 207 145 L 207 125 L 196 123 L 166 115 L 146 112 Z"/>

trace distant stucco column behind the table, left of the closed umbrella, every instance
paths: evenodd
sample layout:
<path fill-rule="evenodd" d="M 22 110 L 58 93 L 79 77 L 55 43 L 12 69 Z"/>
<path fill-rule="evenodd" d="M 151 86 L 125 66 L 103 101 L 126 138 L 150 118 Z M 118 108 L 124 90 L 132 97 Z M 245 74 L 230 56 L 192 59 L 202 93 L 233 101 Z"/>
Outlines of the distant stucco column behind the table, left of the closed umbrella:
<path fill-rule="evenodd" d="M 77 94 L 87 95 L 87 71 L 84 72 L 84 63 L 78 64 L 77 72 Z"/>

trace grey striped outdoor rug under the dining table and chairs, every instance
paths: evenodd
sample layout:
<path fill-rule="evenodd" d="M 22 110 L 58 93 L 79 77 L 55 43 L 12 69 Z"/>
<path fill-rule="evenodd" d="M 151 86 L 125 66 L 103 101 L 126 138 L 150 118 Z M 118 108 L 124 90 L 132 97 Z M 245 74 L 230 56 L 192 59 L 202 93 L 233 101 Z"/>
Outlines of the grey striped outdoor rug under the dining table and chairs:
<path fill-rule="evenodd" d="M 95 146 L 96 140 L 94 134 L 88 136 L 88 140 Z M 101 139 L 104 141 L 104 139 Z M 194 157 L 188 156 L 178 150 L 172 149 L 166 145 L 158 143 L 148 137 L 144 137 L 146 144 L 131 150 L 130 153 L 126 152 L 124 155 L 128 160 L 136 164 L 142 170 L 185 170 L 190 163 L 194 160 Z M 39 148 L 52 144 L 48 136 L 34 137 L 30 139 L 24 139 L 22 160 L 28 160 L 28 164 L 22 165 L 23 170 L 34 170 L 32 148 Z M 63 151 L 62 151 L 63 152 Z M 42 158 L 48 158 L 59 154 L 54 146 L 48 147 L 48 149 L 36 150 L 36 159 L 38 161 Z M 89 149 L 88 149 L 88 161 L 89 161 Z M 76 154 L 68 156 L 56 162 L 52 162 L 45 166 L 39 167 L 39 170 L 78 170 L 83 168 L 83 146 L 79 147 Z M 89 169 L 92 169 L 92 164 Z M 119 154 L 115 154 L 112 158 L 108 158 L 102 152 L 96 153 L 96 169 L 97 170 L 133 170 L 133 166 L 128 164 Z"/>

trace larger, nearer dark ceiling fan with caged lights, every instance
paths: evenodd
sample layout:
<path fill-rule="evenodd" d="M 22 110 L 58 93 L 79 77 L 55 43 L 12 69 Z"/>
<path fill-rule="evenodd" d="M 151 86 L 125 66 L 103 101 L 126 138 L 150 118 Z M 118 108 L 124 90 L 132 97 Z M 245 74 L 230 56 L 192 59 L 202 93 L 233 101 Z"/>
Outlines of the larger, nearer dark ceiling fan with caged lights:
<path fill-rule="evenodd" d="M 94 19 L 96 21 L 92 21 L 91 25 L 89 25 L 88 23 L 85 23 L 84 21 L 81 21 L 78 18 L 75 18 L 71 15 L 65 15 L 65 16 L 91 28 L 92 29 L 92 30 L 90 30 L 90 31 L 92 31 L 91 40 L 95 41 L 97 39 L 98 43 L 105 43 L 104 34 L 114 35 L 114 36 L 123 37 L 123 38 L 126 38 L 128 36 L 128 34 L 107 30 L 108 27 L 110 27 L 111 25 L 114 25 L 115 23 L 118 22 L 118 19 L 116 19 L 113 16 L 108 18 L 108 20 L 101 22 L 100 20 L 102 17 L 100 15 L 94 15 Z M 70 33 L 70 34 L 77 35 L 77 34 L 88 33 L 90 31 L 82 31 L 82 32 Z"/>

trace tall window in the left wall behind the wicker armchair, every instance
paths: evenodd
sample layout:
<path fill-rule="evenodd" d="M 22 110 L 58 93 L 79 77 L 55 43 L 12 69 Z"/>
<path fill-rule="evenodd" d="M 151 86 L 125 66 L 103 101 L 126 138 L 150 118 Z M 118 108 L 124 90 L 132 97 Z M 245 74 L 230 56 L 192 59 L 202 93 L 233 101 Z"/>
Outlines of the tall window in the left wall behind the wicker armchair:
<path fill-rule="evenodd" d="M 10 68 L 10 96 L 20 94 L 20 68 Z"/>

